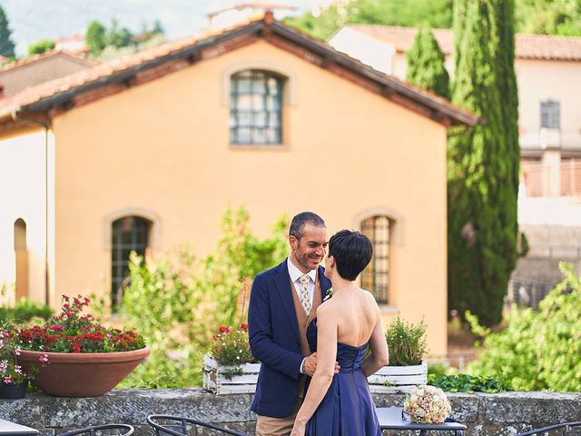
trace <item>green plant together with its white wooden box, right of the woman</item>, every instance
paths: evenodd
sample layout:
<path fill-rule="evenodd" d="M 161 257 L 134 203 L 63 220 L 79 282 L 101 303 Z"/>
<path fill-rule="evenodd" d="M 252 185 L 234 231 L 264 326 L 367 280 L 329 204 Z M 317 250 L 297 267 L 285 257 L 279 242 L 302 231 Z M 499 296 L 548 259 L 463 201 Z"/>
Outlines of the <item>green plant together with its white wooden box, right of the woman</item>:
<path fill-rule="evenodd" d="M 423 320 L 414 324 L 398 317 L 389 324 L 389 365 L 368 378 L 370 391 L 409 391 L 428 382 L 428 364 L 423 360 L 428 349 L 426 329 Z"/>

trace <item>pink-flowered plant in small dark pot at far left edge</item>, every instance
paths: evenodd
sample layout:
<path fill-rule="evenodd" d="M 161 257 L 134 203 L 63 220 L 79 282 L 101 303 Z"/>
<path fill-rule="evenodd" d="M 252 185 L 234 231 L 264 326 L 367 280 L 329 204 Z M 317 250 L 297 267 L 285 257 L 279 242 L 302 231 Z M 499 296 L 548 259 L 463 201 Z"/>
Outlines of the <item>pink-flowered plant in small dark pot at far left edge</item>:
<path fill-rule="evenodd" d="M 38 372 L 37 365 L 25 371 L 19 364 L 21 350 L 17 342 L 10 325 L 0 326 L 0 399 L 24 398 L 28 381 Z"/>

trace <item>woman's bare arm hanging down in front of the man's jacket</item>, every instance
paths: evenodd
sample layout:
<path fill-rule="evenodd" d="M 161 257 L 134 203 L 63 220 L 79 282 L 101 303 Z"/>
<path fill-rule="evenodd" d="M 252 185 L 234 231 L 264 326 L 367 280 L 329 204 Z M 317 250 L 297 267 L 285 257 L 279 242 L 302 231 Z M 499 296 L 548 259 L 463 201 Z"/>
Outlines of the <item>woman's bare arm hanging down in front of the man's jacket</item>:
<path fill-rule="evenodd" d="M 325 306 L 317 310 L 317 369 L 297 413 L 291 436 L 304 434 L 307 421 L 319 407 L 333 380 L 337 358 L 337 319 L 331 312 L 330 304 Z"/>

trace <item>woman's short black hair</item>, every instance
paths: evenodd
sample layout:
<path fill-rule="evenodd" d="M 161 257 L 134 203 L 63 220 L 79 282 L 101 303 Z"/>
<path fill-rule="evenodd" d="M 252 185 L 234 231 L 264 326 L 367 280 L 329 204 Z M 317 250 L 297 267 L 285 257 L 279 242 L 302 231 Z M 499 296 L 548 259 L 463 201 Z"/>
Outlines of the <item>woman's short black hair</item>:
<path fill-rule="evenodd" d="M 329 255 L 335 259 L 341 278 L 355 280 L 369 264 L 373 245 L 363 233 L 341 230 L 330 237 Z"/>

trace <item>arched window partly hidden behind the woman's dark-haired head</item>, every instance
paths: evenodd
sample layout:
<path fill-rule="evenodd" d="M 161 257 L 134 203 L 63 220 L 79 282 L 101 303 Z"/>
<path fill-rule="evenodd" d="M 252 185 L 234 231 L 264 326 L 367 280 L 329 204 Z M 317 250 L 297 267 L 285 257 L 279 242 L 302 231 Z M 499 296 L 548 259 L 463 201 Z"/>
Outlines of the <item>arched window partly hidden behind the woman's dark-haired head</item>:
<path fill-rule="evenodd" d="M 373 244 L 373 257 L 361 272 L 361 287 L 375 295 L 377 302 L 388 302 L 389 292 L 389 218 L 373 216 L 361 222 L 361 233 Z"/>

